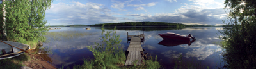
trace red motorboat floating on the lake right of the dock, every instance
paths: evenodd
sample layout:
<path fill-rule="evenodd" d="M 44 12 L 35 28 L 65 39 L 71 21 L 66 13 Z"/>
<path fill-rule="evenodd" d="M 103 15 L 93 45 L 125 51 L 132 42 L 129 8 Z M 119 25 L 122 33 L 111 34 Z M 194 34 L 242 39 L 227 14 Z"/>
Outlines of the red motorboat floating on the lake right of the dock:
<path fill-rule="evenodd" d="M 186 36 L 186 35 L 167 32 L 165 34 L 158 34 L 158 35 L 160 35 L 163 39 L 177 39 L 177 40 L 183 40 L 183 41 L 190 41 L 190 38 L 195 39 L 194 37 L 192 37 L 191 34 Z"/>

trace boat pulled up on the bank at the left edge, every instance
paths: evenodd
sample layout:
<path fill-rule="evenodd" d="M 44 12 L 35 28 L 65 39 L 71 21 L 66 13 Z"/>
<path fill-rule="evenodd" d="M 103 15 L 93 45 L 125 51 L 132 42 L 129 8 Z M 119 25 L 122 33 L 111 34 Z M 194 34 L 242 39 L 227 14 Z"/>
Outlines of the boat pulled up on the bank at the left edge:
<path fill-rule="evenodd" d="M 7 44 L 5 44 L 4 42 Z M 12 47 L 8 44 L 18 47 L 19 49 Z M 20 54 L 23 54 L 24 51 L 22 52 L 20 49 L 29 50 L 30 47 L 27 44 L 22 44 L 19 42 L 12 42 L 12 41 L 0 42 L 0 60 L 6 59 L 6 58 L 13 58 L 15 56 L 19 56 Z M 12 54 L 12 55 L 3 56 L 4 54 Z"/>

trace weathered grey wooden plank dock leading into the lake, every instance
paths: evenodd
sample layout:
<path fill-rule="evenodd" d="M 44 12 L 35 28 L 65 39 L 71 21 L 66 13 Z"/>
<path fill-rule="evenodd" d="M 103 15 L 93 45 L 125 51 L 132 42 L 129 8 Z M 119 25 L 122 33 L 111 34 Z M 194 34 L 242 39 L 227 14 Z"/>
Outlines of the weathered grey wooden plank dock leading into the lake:
<path fill-rule="evenodd" d="M 142 41 L 141 41 L 142 37 Z M 126 65 L 133 65 L 133 63 L 136 63 L 136 65 L 141 65 L 141 51 L 143 51 L 141 47 L 141 42 L 144 41 L 144 32 L 140 35 L 128 35 L 127 32 L 127 39 L 131 39 L 130 45 L 127 49 L 129 51 L 125 66 Z M 137 61 L 137 62 L 135 62 Z"/>

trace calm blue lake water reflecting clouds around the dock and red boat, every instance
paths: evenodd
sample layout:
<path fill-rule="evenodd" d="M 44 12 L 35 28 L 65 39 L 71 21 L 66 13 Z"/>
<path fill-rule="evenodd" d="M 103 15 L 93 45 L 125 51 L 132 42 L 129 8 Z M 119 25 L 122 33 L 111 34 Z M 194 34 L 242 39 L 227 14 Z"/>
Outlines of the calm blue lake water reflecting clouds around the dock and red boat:
<path fill-rule="evenodd" d="M 100 27 L 91 27 L 91 30 L 83 29 L 85 27 L 61 27 L 61 30 L 49 30 L 49 32 L 60 33 L 81 33 L 86 35 L 77 35 L 76 37 L 68 36 L 61 37 L 62 39 L 56 39 L 49 37 L 50 42 L 44 43 L 43 47 L 47 47 L 52 53 L 42 54 L 42 57 L 47 61 L 61 68 L 72 67 L 74 65 L 83 64 L 83 58 L 93 59 L 93 54 L 86 46 L 95 45 L 94 42 L 100 43 L 101 29 Z M 113 27 L 106 27 L 105 30 L 111 30 Z M 129 35 L 136 35 L 144 31 L 145 41 L 142 44 L 144 53 L 150 53 L 151 56 L 156 56 L 158 61 L 160 59 L 161 65 L 164 68 L 173 68 L 175 65 L 175 59 L 179 54 L 183 55 L 184 61 L 198 61 L 201 65 L 210 66 L 210 68 L 216 68 L 223 66 L 221 58 L 222 49 L 220 46 L 213 42 L 221 41 L 217 38 L 221 35 L 218 30 L 222 30 L 221 27 L 117 27 L 116 34 L 121 35 L 122 39 L 121 47 L 127 50 L 129 44 L 127 43 L 127 32 Z M 189 33 L 196 37 L 196 41 L 190 46 L 188 44 L 177 44 L 177 46 L 164 46 L 159 44 L 163 39 L 158 35 L 166 32 L 174 32 L 177 34 L 188 35 Z M 75 34 L 74 34 L 75 35 Z M 56 35 L 58 37 L 58 35 Z M 168 42 L 168 41 L 163 41 Z M 170 42 L 173 43 L 173 42 Z M 166 45 L 166 44 L 165 44 Z"/>

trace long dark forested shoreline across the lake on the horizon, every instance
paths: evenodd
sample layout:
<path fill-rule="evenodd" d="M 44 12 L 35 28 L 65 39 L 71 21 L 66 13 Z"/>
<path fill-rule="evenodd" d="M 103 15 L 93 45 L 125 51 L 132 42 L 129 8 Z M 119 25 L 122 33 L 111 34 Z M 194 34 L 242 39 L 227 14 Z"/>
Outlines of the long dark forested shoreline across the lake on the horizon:
<path fill-rule="evenodd" d="M 169 27 L 222 27 L 215 25 L 185 25 L 182 23 L 167 23 L 167 22 L 120 22 L 120 23 L 100 23 L 94 25 L 51 25 L 50 27 L 122 27 L 122 26 L 169 26 Z"/>

